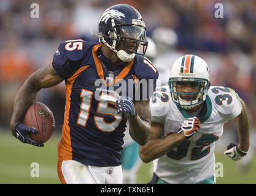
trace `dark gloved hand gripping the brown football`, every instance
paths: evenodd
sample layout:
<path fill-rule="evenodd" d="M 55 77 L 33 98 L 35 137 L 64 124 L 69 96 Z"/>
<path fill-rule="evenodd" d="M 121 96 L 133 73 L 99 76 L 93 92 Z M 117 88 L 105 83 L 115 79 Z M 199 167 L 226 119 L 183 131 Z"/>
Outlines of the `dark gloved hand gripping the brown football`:
<path fill-rule="evenodd" d="M 38 130 L 34 129 L 33 127 L 27 127 L 24 124 L 17 122 L 12 130 L 12 135 L 14 135 L 15 138 L 18 138 L 18 140 L 20 140 L 22 143 L 43 147 L 43 144 L 37 143 L 29 138 L 30 133 L 36 134 L 37 132 Z"/>

